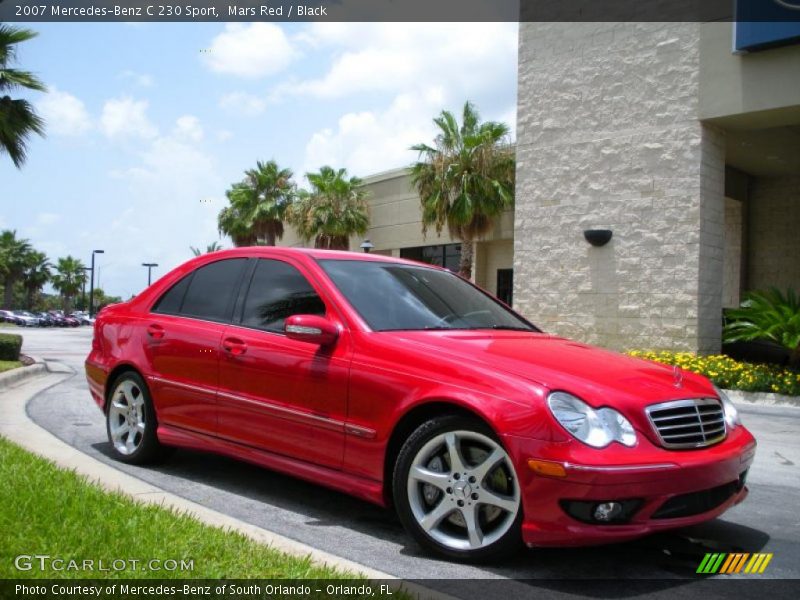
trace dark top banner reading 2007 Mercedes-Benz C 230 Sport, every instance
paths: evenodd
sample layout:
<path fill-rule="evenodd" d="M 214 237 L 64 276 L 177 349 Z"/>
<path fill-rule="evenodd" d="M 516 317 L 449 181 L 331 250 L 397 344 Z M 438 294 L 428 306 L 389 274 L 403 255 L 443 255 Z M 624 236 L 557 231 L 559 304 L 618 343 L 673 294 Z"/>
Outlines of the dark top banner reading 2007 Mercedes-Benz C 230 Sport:
<path fill-rule="evenodd" d="M 0 0 L 0 21 L 800 22 L 800 0 Z"/>

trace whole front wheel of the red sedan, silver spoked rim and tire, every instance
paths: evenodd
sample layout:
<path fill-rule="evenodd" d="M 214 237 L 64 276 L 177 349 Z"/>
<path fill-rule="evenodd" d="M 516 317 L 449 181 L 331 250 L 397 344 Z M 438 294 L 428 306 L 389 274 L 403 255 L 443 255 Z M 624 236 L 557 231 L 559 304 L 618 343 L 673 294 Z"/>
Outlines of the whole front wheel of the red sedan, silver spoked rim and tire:
<path fill-rule="evenodd" d="M 514 466 L 479 421 L 445 416 L 422 424 L 400 451 L 393 493 L 403 525 L 428 550 L 479 561 L 521 545 Z"/>

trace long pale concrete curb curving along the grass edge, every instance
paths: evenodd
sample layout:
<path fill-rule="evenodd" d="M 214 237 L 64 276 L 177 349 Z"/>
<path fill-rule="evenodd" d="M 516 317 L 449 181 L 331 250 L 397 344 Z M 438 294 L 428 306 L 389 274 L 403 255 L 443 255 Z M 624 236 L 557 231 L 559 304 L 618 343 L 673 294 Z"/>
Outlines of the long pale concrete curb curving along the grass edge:
<path fill-rule="evenodd" d="M 34 369 L 34 367 L 38 368 Z M 25 370 L 30 370 L 30 373 L 18 375 L 13 379 L 17 385 L 10 386 L 8 382 L 4 382 L 7 387 L 0 388 L 3 390 L 3 394 L 0 396 L 0 405 L 2 405 L 0 435 L 26 450 L 43 456 L 60 467 L 74 470 L 105 490 L 121 492 L 136 502 L 154 504 L 172 509 L 180 514 L 188 514 L 213 527 L 242 533 L 274 550 L 298 557 L 309 557 L 317 564 L 350 571 L 369 579 L 397 580 L 397 588 L 403 587 L 426 596 L 446 596 L 181 498 L 80 452 L 34 423 L 26 411 L 27 403 L 31 398 L 64 381 L 67 378 L 64 376 L 66 374 L 50 373 L 47 366 L 41 363 L 25 367 Z M 41 376 L 36 377 L 37 375 Z"/>

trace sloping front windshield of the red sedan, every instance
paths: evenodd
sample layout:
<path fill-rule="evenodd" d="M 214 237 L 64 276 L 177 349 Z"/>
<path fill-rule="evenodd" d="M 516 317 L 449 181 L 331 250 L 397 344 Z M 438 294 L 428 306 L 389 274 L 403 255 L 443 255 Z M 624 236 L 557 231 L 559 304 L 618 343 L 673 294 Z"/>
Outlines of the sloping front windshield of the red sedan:
<path fill-rule="evenodd" d="M 539 331 L 488 294 L 448 271 L 358 260 L 320 260 L 319 263 L 374 331 Z"/>

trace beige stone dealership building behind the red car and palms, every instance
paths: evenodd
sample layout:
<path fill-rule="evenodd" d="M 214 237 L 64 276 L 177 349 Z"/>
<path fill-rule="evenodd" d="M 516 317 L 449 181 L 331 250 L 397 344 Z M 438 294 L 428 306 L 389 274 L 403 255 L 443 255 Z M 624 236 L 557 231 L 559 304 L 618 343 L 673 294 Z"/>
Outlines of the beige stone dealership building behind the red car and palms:
<path fill-rule="evenodd" d="M 620 350 L 715 352 L 744 291 L 800 291 L 800 30 L 760 25 L 748 46 L 742 24 L 522 23 L 516 203 L 476 283 Z M 373 251 L 457 265 L 405 170 L 365 185 Z"/>

